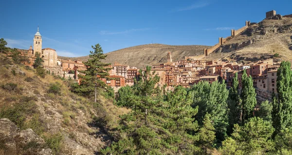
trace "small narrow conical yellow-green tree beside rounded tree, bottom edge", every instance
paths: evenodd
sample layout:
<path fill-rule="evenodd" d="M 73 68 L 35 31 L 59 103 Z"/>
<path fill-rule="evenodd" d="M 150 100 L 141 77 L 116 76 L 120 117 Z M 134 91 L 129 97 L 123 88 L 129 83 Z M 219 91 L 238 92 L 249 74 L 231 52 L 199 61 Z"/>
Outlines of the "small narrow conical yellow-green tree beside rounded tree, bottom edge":
<path fill-rule="evenodd" d="M 213 143 L 216 138 L 215 128 L 212 125 L 211 115 L 206 113 L 203 126 L 199 130 L 200 140 L 198 142 L 199 146 L 203 149 L 204 153 L 207 153 L 207 149 L 213 149 Z"/>

